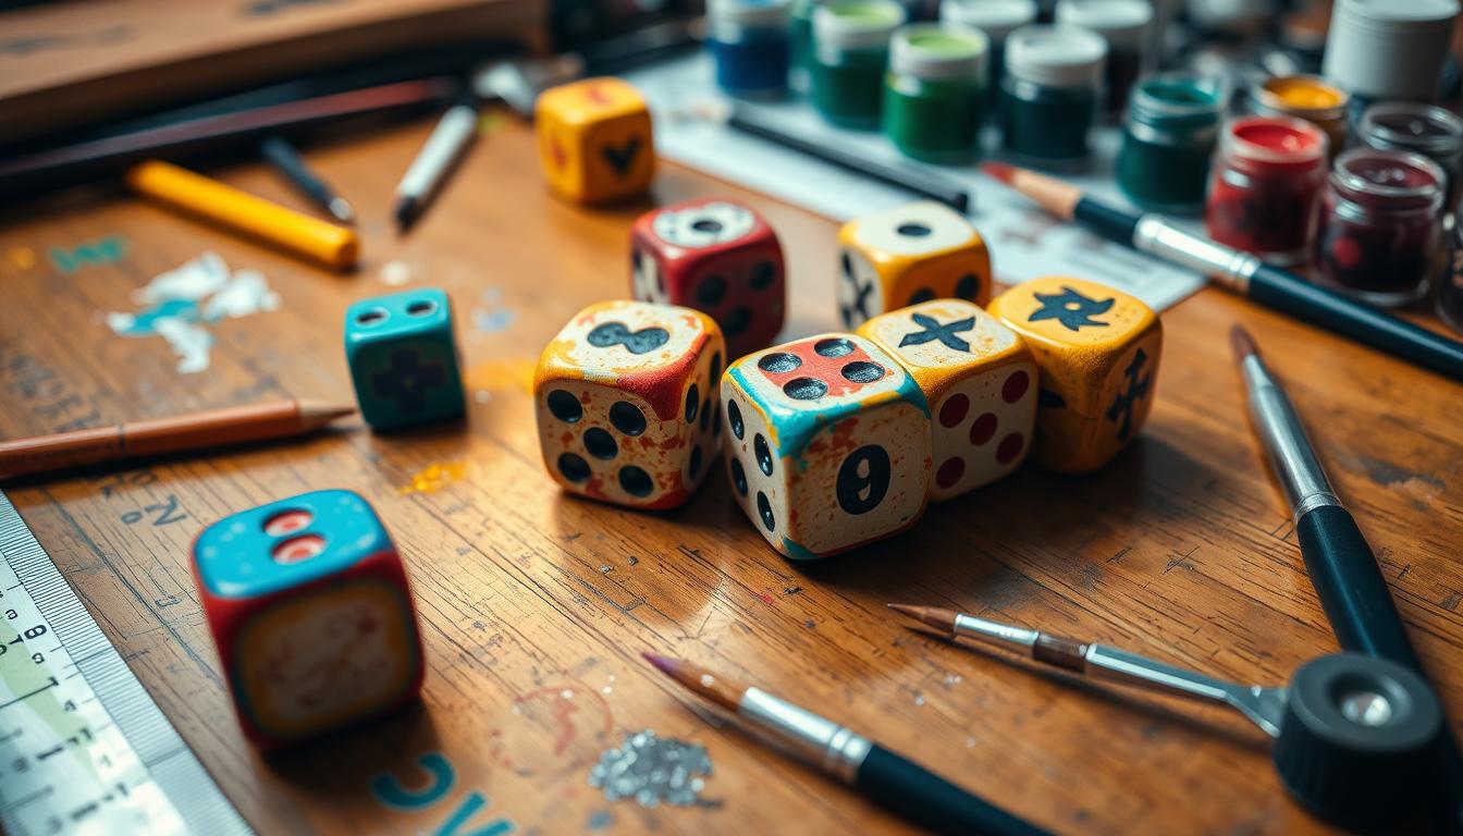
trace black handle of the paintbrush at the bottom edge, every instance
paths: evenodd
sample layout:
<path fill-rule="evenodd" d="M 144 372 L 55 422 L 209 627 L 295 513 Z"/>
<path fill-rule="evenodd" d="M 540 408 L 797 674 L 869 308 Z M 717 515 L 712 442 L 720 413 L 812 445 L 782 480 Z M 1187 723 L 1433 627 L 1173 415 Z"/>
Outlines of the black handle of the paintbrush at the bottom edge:
<path fill-rule="evenodd" d="M 865 796 L 935 833 L 1037 836 L 1046 830 L 960 789 L 944 777 L 875 745 L 854 780 Z"/>

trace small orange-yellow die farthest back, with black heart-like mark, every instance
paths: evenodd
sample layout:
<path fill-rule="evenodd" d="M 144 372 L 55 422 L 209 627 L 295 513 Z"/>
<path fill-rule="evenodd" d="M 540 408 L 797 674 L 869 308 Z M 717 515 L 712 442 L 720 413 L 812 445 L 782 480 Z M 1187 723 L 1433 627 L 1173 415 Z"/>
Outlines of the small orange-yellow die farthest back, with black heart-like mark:
<path fill-rule="evenodd" d="M 655 173 L 650 110 L 629 83 L 593 78 L 550 88 L 534 108 L 549 186 L 576 204 L 644 195 Z"/>

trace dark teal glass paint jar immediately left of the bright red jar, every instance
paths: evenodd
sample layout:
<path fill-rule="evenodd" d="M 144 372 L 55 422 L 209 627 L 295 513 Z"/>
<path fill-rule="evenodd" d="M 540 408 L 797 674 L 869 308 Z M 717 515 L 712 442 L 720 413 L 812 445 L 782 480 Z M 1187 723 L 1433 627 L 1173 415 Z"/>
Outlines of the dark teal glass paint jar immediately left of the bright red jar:
<path fill-rule="evenodd" d="M 1128 199 L 1159 212 L 1203 209 L 1227 104 L 1229 91 L 1219 79 L 1160 73 L 1138 82 L 1116 163 Z"/>

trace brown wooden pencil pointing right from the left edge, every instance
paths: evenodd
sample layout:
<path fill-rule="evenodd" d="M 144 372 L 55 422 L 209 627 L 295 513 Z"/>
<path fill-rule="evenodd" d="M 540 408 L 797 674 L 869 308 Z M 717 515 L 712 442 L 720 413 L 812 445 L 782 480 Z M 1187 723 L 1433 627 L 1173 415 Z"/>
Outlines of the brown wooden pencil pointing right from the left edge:
<path fill-rule="evenodd" d="M 354 411 L 322 401 L 272 401 L 0 441 L 0 479 L 306 435 Z"/>

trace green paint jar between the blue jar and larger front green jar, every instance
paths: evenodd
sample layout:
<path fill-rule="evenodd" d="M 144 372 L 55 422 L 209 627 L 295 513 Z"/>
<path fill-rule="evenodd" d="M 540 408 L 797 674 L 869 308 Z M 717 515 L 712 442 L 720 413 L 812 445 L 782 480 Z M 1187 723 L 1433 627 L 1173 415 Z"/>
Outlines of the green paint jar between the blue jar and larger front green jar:
<path fill-rule="evenodd" d="M 813 10 L 813 105 L 834 124 L 878 127 L 890 37 L 904 25 L 892 0 L 843 0 Z"/>

